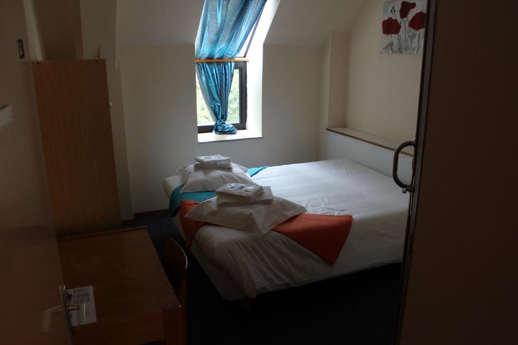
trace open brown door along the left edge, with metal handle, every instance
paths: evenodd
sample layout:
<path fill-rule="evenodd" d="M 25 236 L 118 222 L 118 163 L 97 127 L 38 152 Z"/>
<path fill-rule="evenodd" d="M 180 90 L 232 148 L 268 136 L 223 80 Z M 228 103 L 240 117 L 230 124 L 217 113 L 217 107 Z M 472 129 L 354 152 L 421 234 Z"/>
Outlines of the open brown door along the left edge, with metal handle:
<path fill-rule="evenodd" d="M 27 42 L 23 2 L 0 0 L 0 344 L 69 344 Z"/>

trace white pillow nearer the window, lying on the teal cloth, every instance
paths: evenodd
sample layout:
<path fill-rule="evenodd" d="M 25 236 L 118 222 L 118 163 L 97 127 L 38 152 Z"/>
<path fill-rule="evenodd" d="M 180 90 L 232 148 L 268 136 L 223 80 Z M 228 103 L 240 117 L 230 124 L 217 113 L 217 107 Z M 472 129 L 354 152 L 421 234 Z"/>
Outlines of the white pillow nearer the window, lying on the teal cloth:
<path fill-rule="evenodd" d="M 180 193 L 216 190 L 227 183 L 242 183 L 257 186 L 250 178 L 247 168 L 232 163 L 232 171 L 221 169 L 194 169 L 194 165 L 178 169 L 184 187 Z"/>

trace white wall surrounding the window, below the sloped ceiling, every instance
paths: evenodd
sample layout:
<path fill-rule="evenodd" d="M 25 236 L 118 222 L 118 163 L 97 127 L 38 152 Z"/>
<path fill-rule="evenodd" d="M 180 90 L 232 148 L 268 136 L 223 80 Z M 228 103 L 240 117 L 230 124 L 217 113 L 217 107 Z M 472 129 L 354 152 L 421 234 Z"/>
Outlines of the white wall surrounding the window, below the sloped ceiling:
<path fill-rule="evenodd" d="M 264 46 L 264 138 L 205 144 L 197 142 L 194 44 L 120 54 L 134 212 L 166 208 L 162 180 L 196 155 L 229 155 L 247 167 L 317 159 L 318 48 Z"/>

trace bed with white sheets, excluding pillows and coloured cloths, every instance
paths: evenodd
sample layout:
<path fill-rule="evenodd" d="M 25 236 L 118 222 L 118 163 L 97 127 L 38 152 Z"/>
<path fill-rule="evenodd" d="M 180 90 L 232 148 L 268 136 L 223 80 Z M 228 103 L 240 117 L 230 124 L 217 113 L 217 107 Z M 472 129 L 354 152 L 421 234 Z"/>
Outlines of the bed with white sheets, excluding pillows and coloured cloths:
<path fill-rule="evenodd" d="M 206 225 L 190 248 L 221 296 L 228 300 L 296 287 L 402 260 L 408 194 L 388 176 L 348 159 L 269 167 L 252 177 L 275 196 L 311 214 L 352 215 L 349 237 L 334 265 L 293 239 Z M 180 176 L 164 180 L 169 197 Z M 183 234 L 179 216 L 173 218 Z"/>

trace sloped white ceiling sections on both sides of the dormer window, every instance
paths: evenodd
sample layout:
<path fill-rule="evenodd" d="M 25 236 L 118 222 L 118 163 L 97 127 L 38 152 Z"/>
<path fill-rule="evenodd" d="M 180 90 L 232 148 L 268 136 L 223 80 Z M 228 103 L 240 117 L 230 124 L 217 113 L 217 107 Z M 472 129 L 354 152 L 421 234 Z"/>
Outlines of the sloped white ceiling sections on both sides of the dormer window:
<path fill-rule="evenodd" d="M 320 46 L 331 31 L 350 30 L 363 1 L 281 0 L 265 44 Z M 120 44 L 193 44 L 203 4 L 204 0 L 118 0 Z"/>

